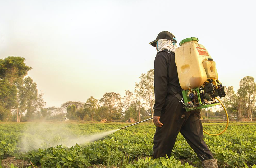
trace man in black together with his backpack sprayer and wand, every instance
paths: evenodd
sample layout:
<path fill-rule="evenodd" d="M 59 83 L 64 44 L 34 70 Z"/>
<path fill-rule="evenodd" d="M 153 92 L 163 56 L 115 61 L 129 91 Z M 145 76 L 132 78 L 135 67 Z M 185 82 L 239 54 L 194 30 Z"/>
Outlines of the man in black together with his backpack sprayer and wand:
<path fill-rule="evenodd" d="M 227 88 L 218 80 L 215 62 L 205 47 L 198 43 L 198 38 L 184 39 L 180 42 L 180 47 L 176 43 L 176 37 L 168 31 L 159 33 L 149 43 L 157 49 L 154 62 L 153 117 L 157 128 L 153 157 L 163 157 L 166 154 L 170 156 L 180 132 L 204 167 L 217 168 L 217 160 L 203 140 L 205 131 L 200 120 L 200 109 L 222 105 L 226 112 L 217 97 L 225 97 L 228 94 Z M 222 134 L 228 126 L 227 112 L 226 116 L 226 128 L 221 133 L 205 133 Z"/>

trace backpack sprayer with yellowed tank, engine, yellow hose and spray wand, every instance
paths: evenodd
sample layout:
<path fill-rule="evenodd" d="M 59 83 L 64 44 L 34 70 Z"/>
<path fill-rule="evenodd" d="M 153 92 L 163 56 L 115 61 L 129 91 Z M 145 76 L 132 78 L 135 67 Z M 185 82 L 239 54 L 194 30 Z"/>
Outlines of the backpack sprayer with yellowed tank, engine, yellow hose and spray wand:
<path fill-rule="evenodd" d="M 222 83 L 218 80 L 215 62 L 205 47 L 198 43 L 198 38 L 186 38 L 180 42 L 180 47 L 175 51 L 175 63 L 179 82 L 183 89 L 181 97 L 175 88 L 171 86 L 175 97 L 183 104 L 186 111 L 222 105 L 227 117 L 225 129 L 218 134 L 210 134 L 206 131 L 203 132 L 213 136 L 225 132 L 228 127 L 228 113 L 225 106 L 217 97 L 225 97 L 228 94 L 228 90 L 226 86 L 222 86 Z M 153 118 L 141 122 L 151 119 Z"/>

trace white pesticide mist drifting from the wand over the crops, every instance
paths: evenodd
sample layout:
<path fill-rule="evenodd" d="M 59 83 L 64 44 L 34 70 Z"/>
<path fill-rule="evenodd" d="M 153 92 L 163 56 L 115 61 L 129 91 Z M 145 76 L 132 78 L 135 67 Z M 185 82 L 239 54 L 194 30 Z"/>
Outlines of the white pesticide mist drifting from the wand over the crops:
<path fill-rule="evenodd" d="M 57 145 L 71 147 L 75 144 L 86 144 L 101 139 L 117 130 L 110 130 L 93 135 L 78 136 L 66 124 L 46 122 L 27 124 L 19 146 L 22 152 L 38 148 L 49 148 Z"/>

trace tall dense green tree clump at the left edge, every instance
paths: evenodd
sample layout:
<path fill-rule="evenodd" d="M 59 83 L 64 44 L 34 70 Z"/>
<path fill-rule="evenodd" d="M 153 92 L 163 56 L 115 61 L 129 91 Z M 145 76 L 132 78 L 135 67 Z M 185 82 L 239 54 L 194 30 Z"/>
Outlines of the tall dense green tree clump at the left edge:
<path fill-rule="evenodd" d="M 7 57 L 0 59 L 0 120 L 21 121 L 22 117 L 31 119 L 40 116 L 45 106 L 42 94 L 38 93 L 36 83 L 27 77 L 32 68 L 25 58 Z"/>

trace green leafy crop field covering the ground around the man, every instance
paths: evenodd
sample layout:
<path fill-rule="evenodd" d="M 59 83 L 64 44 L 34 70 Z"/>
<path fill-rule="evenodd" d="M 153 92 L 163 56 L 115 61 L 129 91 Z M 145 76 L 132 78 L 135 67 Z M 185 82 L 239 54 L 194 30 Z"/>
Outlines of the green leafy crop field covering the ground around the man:
<path fill-rule="evenodd" d="M 27 161 L 29 164 L 25 167 L 31 168 L 202 167 L 201 161 L 180 134 L 170 158 L 153 160 L 155 126 L 152 123 L 118 130 L 94 141 L 99 138 L 95 134 L 126 125 L 128 124 L 0 123 L 0 161 L 15 157 Z M 203 126 L 211 133 L 218 133 L 225 127 L 225 123 Z M 219 167 L 256 168 L 255 123 L 231 123 L 224 134 L 205 135 L 204 140 L 218 160 Z M 16 167 L 11 162 L 9 164 L 8 167 Z"/>

